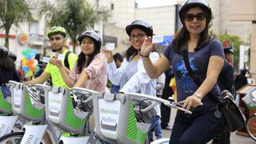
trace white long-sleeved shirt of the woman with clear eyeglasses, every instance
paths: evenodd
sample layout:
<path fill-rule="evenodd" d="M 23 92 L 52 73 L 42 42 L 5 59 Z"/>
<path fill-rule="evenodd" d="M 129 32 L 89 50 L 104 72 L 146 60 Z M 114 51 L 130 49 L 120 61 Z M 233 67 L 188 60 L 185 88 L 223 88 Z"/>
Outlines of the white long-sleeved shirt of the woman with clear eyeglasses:
<path fill-rule="evenodd" d="M 151 62 L 155 63 L 159 59 L 156 52 L 150 53 Z M 137 66 L 137 67 L 134 67 Z M 156 78 L 151 79 L 144 69 L 142 58 L 138 58 L 138 62 L 127 61 L 126 58 L 122 65 L 117 69 L 114 61 L 108 64 L 108 76 L 110 81 L 120 86 L 120 91 L 124 93 L 140 93 L 156 97 Z M 159 105 L 154 109 L 161 116 Z"/>

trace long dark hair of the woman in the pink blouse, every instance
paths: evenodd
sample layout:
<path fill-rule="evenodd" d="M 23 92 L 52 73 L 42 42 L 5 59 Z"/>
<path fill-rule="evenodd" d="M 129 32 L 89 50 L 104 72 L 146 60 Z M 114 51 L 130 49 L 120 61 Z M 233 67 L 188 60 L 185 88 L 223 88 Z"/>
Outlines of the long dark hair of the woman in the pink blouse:
<path fill-rule="evenodd" d="M 94 38 L 91 38 L 94 42 L 94 52 L 93 54 L 90 54 L 90 57 L 88 59 L 86 59 L 86 55 L 81 53 L 78 55 L 78 61 L 77 61 L 77 73 L 81 74 L 82 69 L 84 68 L 84 66 L 89 66 L 90 62 L 92 62 L 94 60 L 95 55 L 97 55 L 98 53 L 100 53 L 101 51 L 101 46 L 98 45 L 98 43 L 94 40 Z"/>

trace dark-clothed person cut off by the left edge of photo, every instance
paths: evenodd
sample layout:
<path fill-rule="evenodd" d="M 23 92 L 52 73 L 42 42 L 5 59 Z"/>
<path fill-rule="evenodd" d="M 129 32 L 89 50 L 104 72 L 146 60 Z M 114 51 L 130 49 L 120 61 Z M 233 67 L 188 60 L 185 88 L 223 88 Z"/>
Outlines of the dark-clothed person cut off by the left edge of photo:
<path fill-rule="evenodd" d="M 8 57 L 8 54 L 8 49 L 5 46 L 0 46 L 0 87 L 5 89 L 2 92 L 7 90 L 5 83 L 8 83 L 8 81 L 20 81 L 14 60 Z M 4 93 L 3 95 L 6 98 L 7 94 Z"/>

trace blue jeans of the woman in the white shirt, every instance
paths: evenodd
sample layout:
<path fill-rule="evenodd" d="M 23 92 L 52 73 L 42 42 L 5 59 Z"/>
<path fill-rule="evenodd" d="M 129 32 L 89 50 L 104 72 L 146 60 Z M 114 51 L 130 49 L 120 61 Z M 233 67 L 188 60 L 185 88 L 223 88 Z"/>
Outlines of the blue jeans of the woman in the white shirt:
<path fill-rule="evenodd" d="M 162 138 L 162 128 L 160 126 L 160 116 L 156 115 L 153 118 L 153 122 L 150 126 L 150 131 L 149 131 L 149 137 L 153 139 L 153 131 L 151 131 L 154 128 L 154 135 L 156 138 Z"/>

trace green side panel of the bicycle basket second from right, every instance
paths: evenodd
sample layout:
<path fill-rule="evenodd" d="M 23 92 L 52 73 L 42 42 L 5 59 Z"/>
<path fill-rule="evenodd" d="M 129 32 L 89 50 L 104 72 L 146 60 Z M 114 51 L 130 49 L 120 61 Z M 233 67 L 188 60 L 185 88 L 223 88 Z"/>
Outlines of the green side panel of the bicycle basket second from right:
<path fill-rule="evenodd" d="M 66 125 L 69 125 L 71 127 L 74 127 L 76 129 L 80 129 L 84 124 L 86 123 L 86 118 L 78 118 L 74 114 L 74 108 L 71 100 L 71 96 L 68 95 L 66 98 Z"/>

